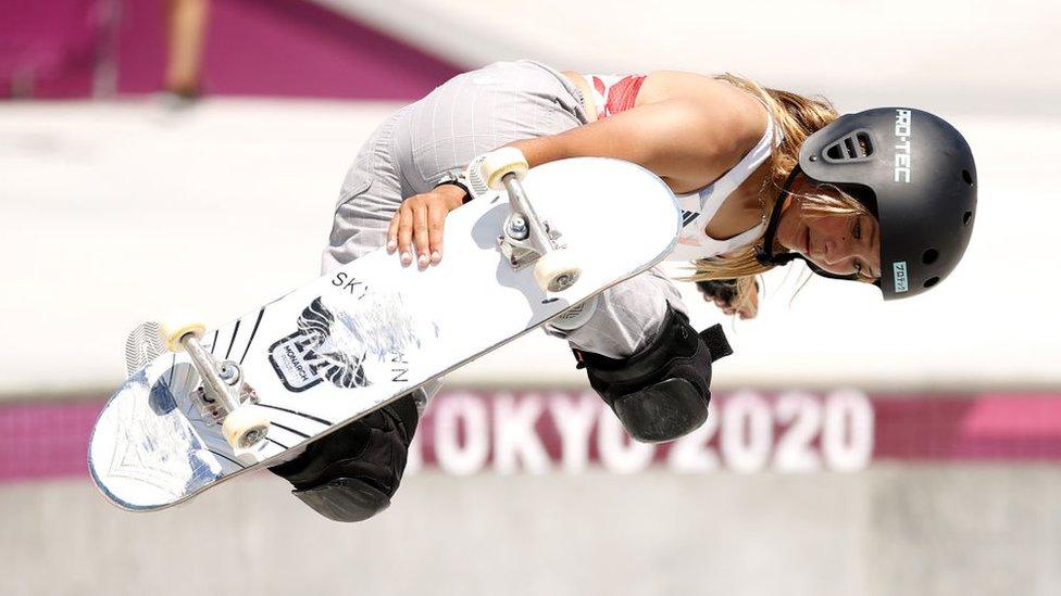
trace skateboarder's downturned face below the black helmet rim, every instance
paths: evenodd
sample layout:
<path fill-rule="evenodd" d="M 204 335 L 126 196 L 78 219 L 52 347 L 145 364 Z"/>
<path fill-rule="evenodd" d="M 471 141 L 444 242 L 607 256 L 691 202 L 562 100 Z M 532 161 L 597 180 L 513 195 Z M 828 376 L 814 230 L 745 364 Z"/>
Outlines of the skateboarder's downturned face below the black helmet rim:
<path fill-rule="evenodd" d="M 881 229 L 873 216 L 813 212 L 801 196 L 785 202 L 776 236 L 782 246 L 831 274 L 881 277 Z"/>

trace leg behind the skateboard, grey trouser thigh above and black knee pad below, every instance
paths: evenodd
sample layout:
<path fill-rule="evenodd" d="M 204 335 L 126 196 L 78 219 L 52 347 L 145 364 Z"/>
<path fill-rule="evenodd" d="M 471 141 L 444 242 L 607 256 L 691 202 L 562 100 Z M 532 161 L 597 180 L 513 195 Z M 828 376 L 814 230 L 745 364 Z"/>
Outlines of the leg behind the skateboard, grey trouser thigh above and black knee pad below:
<path fill-rule="evenodd" d="M 499 63 L 460 75 L 388 118 L 344 181 L 324 272 L 382 246 L 402 199 L 426 191 L 447 170 L 511 140 L 585 122 L 581 99 L 567 86 L 548 67 Z M 439 385 L 311 443 L 272 471 L 329 519 L 361 521 L 378 513 L 398 490 L 419 411 Z"/>

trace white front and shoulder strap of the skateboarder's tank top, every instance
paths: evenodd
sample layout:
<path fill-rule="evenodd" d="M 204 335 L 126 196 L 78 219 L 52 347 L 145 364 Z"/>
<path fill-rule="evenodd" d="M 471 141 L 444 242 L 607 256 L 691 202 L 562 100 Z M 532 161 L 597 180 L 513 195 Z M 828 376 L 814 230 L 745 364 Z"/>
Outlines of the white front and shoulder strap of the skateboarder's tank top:
<path fill-rule="evenodd" d="M 677 196 L 685 225 L 677 245 L 666 261 L 696 261 L 717 256 L 747 246 L 763 234 L 766 230 L 765 221 L 760 221 L 754 228 L 745 230 L 728 240 L 711 238 L 708 236 L 707 227 L 726 198 L 770 157 L 771 150 L 779 143 L 779 138 L 774 139 L 774 118 L 767 115 L 766 131 L 759 139 L 759 143 L 737 165 L 702 189 Z"/>

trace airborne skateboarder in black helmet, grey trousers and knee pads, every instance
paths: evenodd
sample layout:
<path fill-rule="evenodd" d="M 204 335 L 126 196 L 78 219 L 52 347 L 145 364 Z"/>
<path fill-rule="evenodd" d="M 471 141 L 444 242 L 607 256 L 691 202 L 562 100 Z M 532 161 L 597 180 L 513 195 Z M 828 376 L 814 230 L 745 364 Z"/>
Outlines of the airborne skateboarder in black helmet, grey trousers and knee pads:
<path fill-rule="evenodd" d="M 873 147 L 866 130 L 889 147 Z M 342 183 L 324 271 L 383 245 L 407 266 L 438 263 L 446 214 L 472 199 L 466 166 L 502 145 L 532 167 L 597 155 L 659 175 L 686 213 L 672 258 L 692 263 L 691 281 L 735 280 L 723 303 L 742 316 L 754 314 L 754 276 L 792 258 L 826 277 L 876 283 L 885 299 L 918 294 L 953 269 L 972 231 L 972 154 L 931 114 L 879 109 L 838 119 L 824 100 L 735 76 L 582 75 L 519 61 L 454 77 L 376 129 Z M 904 226 L 886 228 L 897 212 Z M 546 329 L 570 342 L 635 439 L 676 439 L 706 419 L 713 356 L 659 270 Z M 389 505 L 434 391 L 437 383 L 272 470 L 322 515 L 367 519 Z"/>

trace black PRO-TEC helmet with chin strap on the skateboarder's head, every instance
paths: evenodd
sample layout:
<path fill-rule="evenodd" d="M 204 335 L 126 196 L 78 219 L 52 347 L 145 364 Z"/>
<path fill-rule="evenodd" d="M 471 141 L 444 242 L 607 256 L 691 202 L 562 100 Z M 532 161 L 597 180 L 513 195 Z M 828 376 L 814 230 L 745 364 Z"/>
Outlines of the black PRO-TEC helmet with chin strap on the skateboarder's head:
<path fill-rule="evenodd" d="M 976 165 L 969 143 L 946 121 L 909 107 L 877 107 L 840 116 L 803 141 L 799 164 L 774 205 L 764 265 L 783 265 L 796 253 L 775 255 L 774 236 L 785 194 L 802 172 L 817 183 L 850 193 L 881 228 L 881 279 L 885 300 L 920 294 L 958 266 L 973 232 Z M 804 259 L 807 261 L 807 259 Z M 837 279 L 807 261 L 814 272 Z"/>

